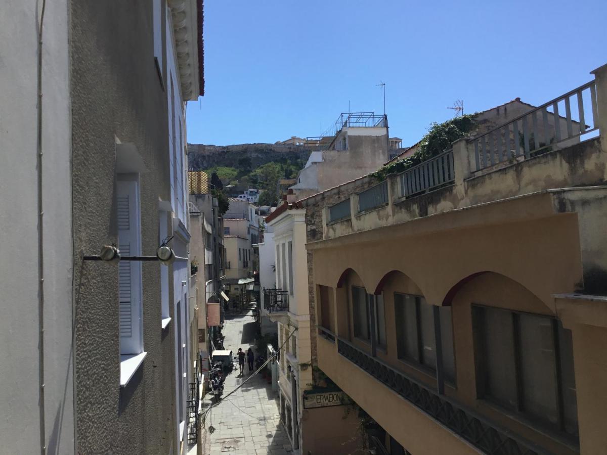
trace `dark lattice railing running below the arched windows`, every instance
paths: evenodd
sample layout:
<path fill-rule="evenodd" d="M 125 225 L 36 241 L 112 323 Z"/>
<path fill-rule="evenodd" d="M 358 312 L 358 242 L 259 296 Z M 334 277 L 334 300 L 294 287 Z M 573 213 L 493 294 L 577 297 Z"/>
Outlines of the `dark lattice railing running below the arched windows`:
<path fill-rule="evenodd" d="M 347 340 L 337 338 L 337 352 L 459 437 L 472 443 L 483 453 L 489 455 L 547 454 L 531 442 L 512 436 L 509 430 L 487 422 L 473 411 L 463 408 L 452 400 L 439 396 L 432 389 L 409 379 L 381 360 L 356 348 Z"/>

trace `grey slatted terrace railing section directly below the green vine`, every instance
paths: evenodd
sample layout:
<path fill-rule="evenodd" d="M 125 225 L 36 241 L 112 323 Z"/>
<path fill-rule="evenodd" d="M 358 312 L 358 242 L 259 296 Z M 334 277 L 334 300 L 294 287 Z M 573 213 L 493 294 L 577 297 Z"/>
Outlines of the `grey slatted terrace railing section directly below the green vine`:
<path fill-rule="evenodd" d="M 447 150 L 440 155 L 430 158 L 400 175 L 401 196 L 427 192 L 447 183 L 455 181 L 453 168 L 453 150 Z"/>

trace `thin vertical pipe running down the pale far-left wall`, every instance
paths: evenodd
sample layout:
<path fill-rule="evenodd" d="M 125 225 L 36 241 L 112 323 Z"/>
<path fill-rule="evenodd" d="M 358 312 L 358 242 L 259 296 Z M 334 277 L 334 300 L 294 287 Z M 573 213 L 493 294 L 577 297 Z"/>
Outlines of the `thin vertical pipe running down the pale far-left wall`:
<path fill-rule="evenodd" d="M 42 0 L 42 10 L 38 23 L 38 110 L 36 125 L 36 168 L 38 171 L 38 384 L 39 384 L 39 425 L 40 453 L 46 453 L 46 433 L 44 428 L 44 239 L 42 237 L 42 25 L 46 0 Z M 37 12 L 36 12 L 37 13 Z"/>

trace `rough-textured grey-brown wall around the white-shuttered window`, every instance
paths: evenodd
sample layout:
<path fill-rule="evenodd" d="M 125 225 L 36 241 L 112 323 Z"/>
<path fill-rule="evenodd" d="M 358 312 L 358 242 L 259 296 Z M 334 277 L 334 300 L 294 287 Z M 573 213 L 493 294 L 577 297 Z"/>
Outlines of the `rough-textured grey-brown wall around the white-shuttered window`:
<path fill-rule="evenodd" d="M 154 64 L 150 2 L 72 1 L 76 390 L 80 453 L 177 453 L 174 321 L 160 328 L 160 267 L 143 263 L 148 356 L 120 388 L 118 268 L 82 261 L 117 241 L 115 141 L 131 142 L 141 174 L 143 254 L 158 246 L 158 199 L 170 200 L 168 113 Z M 172 269 L 169 274 L 172 273 Z M 169 293 L 173 294 L 172 280 Z"/>

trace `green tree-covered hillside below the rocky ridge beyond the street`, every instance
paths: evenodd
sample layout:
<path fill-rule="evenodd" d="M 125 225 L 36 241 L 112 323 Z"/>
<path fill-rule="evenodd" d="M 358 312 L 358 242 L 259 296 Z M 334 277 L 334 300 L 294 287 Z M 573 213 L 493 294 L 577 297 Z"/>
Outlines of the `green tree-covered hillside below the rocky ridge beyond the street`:
<path fill-rule="evenodd" d="M 188 144 L 190 170 L 204 170 L 212 183 L 223 187 L 226 195 L 240 194 L 248 188 L 261 190 L 260 205 L 275 204 L 278 181 L 296 178 L 305 166 L 310 150 L 280 144 L 240 144 L 208 146 Z M 215 176 L 215 177 L 214 177 Z"/>

